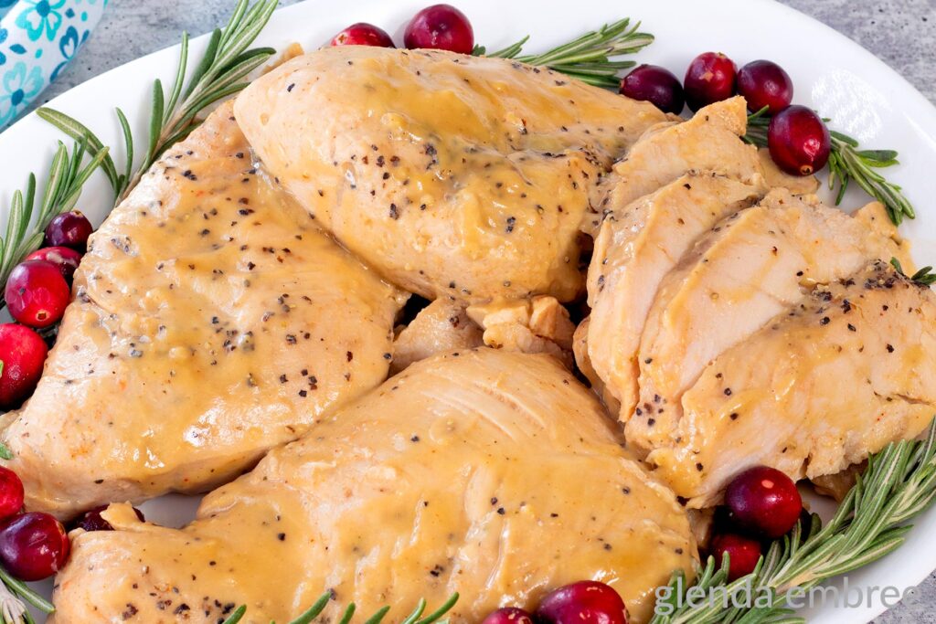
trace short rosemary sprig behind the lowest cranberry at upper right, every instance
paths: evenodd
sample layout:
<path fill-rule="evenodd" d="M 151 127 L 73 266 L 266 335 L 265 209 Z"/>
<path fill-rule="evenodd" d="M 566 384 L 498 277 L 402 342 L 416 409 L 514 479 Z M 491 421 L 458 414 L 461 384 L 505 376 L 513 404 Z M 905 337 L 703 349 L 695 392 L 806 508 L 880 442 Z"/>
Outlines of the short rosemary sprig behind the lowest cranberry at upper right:
<path fill-rule="evenodd" d="M 824 119 L 828 123 L 829 119 Z M 767 108 L 758 110 L 748 117 L 748 132 L 744 139 L 758 147 L 767 146 L 767 128 L 770 118 Z M 901 192 L 900 187 L 889 182 L 878 169 L 897 165 L 897 152 L 894 150 L 860 150 L 858 141 L 835 130 L 829 130 L 831 150 L 828 155 L 828 187 L 839 192 L 836 205 L 848 190 L 851 181 L 860 186 L 865 193 L 874 197 L 887 209 L 887 216 L 894 225 L 900 225 L 904 218 L 913 219 L 916 214 L 910 200 Z"/>

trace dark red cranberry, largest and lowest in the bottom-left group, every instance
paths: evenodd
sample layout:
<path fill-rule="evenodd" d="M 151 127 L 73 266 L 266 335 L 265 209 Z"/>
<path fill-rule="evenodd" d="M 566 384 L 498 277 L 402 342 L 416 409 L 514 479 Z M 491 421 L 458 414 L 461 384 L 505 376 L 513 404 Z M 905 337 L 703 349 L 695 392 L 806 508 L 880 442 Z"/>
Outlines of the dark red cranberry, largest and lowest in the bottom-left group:
<path fill-rule="evenodd" d="M 0 562 L 22 581 L 41 581 L 68 559 L 68 536 L 49 514 L 14 515 L 0 526 Z"/>

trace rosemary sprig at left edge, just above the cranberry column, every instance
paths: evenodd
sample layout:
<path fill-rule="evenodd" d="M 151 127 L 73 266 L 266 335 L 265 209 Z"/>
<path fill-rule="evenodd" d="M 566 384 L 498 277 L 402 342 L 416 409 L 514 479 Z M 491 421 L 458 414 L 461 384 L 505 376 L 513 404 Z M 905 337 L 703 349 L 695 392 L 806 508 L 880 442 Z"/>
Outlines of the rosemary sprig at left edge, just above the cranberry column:
<path fill-rule="evenodd" d="M 57 214 L 72 210 L 81 195 L 84 182 L 108 158 L 106 148 L 94 149 L 85 162 L 87 152 L 83 142 L 70 152 L 59 142 L 42 196 L 37 197 L 36 175 L 30 173 L 25 191 L 16 191 L 9 208 L 7 230 L 0 239 L 0 284 L 6 284 L 10 272 L 27 254 L 36 251 L 46 226 Z M 6 305 L 0 292 L 0 308 Z M 0 456 L 2 457 L 2 456 Z"/>

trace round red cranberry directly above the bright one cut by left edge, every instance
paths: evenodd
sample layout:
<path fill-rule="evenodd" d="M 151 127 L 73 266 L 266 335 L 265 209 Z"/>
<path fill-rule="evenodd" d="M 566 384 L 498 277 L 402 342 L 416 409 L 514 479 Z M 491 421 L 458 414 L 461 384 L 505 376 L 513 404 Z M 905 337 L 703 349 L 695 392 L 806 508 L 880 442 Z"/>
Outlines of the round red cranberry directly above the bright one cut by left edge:
<path fill-rule="evenodd" d="M 49 327 L 62 318 L 71 292 L 62 272 L 48 260 L 27 260 L 13 268 L 5 291 L 7 309 L 29 327 Z"/>

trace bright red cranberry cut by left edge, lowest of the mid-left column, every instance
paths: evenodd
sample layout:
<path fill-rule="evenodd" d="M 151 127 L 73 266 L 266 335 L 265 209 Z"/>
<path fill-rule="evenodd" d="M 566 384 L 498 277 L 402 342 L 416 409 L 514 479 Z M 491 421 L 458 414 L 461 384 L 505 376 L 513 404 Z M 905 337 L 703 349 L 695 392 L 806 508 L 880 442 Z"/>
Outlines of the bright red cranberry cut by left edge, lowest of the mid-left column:
<path fill-rule="evenodd" d="M 33 394 L 48 354 L 46 341 L 29 327 L 14 323 L 0 325 L 0 362 L 3 362 L 3 371 L 0 372 L 0 408 L 17 407 L 23 399 Z"/>

